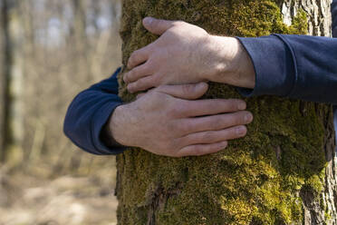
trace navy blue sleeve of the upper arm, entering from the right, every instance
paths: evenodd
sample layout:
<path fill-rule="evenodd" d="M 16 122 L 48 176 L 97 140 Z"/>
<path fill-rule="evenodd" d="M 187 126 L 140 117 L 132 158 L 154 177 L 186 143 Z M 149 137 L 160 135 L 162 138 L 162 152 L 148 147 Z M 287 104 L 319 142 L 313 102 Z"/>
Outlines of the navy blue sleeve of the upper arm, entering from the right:
<path fill-rule="evenodd" d="M 337 104 L 337 39 L 273 34 L 238 38 L 255 66 L 255 89 L 245 96 L 277 95 Z"/>

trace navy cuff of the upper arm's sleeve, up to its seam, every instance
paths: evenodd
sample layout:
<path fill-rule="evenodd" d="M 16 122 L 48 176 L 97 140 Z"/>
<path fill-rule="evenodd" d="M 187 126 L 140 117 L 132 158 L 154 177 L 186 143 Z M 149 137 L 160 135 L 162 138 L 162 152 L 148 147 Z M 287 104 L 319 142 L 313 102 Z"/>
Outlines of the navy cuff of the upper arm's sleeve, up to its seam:
<path fill-rule="evenodd" d="M 237 37 L 244 45 L 255 68 L 255 88 L 237 88 L 246 97 L 258 95 L 287 96 L 295 81 L 294 57 L 277 35 Z"/>

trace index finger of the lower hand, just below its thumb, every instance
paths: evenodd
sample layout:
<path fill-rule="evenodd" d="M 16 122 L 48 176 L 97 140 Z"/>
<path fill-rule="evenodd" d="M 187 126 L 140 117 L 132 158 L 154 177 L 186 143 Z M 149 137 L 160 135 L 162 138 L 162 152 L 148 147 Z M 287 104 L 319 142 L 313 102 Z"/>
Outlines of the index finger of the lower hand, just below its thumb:
<path fill-rule="evenodd" d="M 239 99 L 207 99 L 187 101 L 181 107 L 181 114 L 188 117 L 237 112 L 246 109 L 246 103 Z"/>

